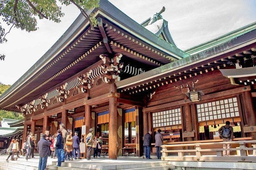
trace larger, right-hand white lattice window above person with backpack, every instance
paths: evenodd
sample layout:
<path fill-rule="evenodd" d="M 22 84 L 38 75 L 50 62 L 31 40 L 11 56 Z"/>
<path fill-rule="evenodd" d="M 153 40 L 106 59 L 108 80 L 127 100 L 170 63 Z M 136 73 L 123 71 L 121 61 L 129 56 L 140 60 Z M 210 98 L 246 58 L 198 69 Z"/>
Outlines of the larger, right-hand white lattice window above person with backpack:
<path fill-rule="evenodd" d="M 236 98 L 229 98 L 197 105 L 198 122 L 232 118 L 237 116 L 239 116 L 239 109 Z"/>

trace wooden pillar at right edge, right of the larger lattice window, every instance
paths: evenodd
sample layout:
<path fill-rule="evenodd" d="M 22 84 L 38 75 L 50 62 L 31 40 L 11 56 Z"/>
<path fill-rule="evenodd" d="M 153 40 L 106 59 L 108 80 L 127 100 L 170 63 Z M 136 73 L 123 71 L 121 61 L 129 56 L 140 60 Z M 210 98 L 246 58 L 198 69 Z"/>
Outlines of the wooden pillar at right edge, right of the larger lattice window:
<path fill-rule="evenodd" d="M 255 126 L 256 125 L 255 109 L 253 107 L 251 91 L 243 92 L 243 100 L 242 101 L 243 101 L 243 107 L 244 107 L 243 108 L 244 116 L 245 116 L 248 126 Z M 256 132 L 247 133 L 247 135 L 253 136 L 254 139 L 256 139 Z"/>

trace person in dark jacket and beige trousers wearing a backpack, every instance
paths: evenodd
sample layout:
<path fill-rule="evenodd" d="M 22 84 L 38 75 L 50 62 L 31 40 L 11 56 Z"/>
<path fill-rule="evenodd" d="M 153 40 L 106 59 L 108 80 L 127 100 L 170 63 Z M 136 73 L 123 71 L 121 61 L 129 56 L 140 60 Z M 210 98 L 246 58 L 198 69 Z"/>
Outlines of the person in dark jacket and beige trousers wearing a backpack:
<path fill-rule="evenodd" d="M 226 125 L 221 126 L 219 129 L 220 139 L 223 139 L 223 142 L 230 142 L 233 140 L 233 127 L 230 126 L 230 122 L 226 121 Z M 223 149 L 230 148 L 230 144 L 223 144 Z M 227 152 L 227 153 L 226 153 Z M 223 150 L 223 156 L 229 156 L 230 150 Z"/>

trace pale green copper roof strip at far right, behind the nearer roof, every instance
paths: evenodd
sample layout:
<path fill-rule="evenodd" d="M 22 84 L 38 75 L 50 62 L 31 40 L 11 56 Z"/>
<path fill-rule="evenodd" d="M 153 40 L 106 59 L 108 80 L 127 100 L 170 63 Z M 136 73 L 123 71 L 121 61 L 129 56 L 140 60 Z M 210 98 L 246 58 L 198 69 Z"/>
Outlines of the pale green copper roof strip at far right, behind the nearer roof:
<path fill-rule="evenodd" d="M 208 48 L 214 47 L 216 45 L 219 45 L 221 43 L 224 43 L 226 41 L 232 40 L 236 37 L 239 37 L 240 35 L 243 35 L 245 33 L 248 33 L 249 31 L 252 31 L 256 28 L 256 22 L 249 24 L 247 26 L 244 26 L 242 28 L 239 28 L 237 30 L 234 30 L 230 33 L 227 33 L 225 35 L 221 35 L 220 37 L 214 38 L 213 40 L 207 41 L 203 44 L 196 45 L 195 47 L 189 48 L 185 50 L 188 54 L 196 54 L 197 52 L 200 52 L 202 50 L 206 50 Z"/>

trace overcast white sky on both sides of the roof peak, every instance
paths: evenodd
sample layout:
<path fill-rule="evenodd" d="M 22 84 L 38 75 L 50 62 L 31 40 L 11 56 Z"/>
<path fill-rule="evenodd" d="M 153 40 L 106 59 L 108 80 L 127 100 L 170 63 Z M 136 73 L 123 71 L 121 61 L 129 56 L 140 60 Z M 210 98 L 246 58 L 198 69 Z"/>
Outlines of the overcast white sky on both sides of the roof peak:
<path fill-rule="evenodd" d="M 110 0 L 141 23 L 165 6 L 163 18 L 178 48 L 204 43 L 256 21 L 256 0 Z M 79 15 L 74 6 L 63 7 L 61 23 L 38 21 L 39 30 L 12 29 L 8 42 L 0 44 L 0 82 L 12 85 L 61 37 Z M 8 30 L 8 29 L 6 29 Z"/>

